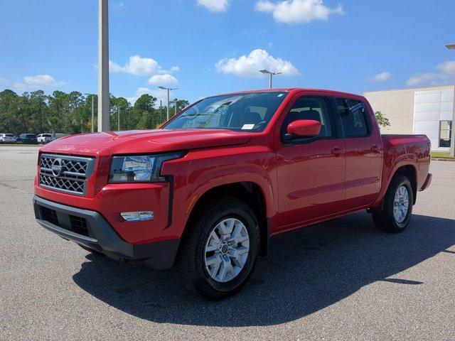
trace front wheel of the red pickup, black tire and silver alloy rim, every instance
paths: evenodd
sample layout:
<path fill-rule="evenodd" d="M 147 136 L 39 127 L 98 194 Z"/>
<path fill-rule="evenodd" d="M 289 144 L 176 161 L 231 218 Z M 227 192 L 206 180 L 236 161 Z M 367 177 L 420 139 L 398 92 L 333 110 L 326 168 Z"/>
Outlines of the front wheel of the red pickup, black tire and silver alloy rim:
<path fill-rule="evenodd" d="M 223 237 L 229 234 L 220 234 L 221 227 L 227 226 L 223 229 L 228 231 L 231 224 L 232 234 Z M 180 286 L 211 301 L 222 300 L 240 291 L 255 269 L 259 251 L 259 227 L 250 207 L 235 198 L 219 200 L 203 209 L 187 229 L 173 267 Z M 246 236 L 248 241 L 235 244 Z M 217 237 L 218 243 L 215 242 Z M 223 243 L 229 244 L 229 251 Z M 245 249 L 248 249 L 247 255 Z M 210 265 L 213 259 L 217 261 Z"/>

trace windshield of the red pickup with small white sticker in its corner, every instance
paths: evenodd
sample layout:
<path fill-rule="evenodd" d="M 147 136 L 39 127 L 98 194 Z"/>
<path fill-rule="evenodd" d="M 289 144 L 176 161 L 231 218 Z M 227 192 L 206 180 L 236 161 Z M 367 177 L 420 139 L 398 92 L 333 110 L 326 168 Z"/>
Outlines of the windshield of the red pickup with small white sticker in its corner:
<path fill-rule="evenodd" d="M 287 92 L 253 92 L 208 97 L 178 114 L 166 129 L 263 131 Z"/>

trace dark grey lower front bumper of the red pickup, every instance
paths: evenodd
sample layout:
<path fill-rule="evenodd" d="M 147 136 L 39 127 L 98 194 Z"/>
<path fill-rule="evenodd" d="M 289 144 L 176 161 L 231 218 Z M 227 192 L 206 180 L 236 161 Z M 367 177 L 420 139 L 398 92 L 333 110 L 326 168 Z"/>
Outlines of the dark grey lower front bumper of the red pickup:
<path fill-rule="evenodd" d="M 100 251 L 119 261 L 137 261 L 154 270 L 171 268 L 180 239 L 131 244 L 115 232 L 98 212 L 62 205 L 35 195 L 36 221 L 64 239 Z"/>

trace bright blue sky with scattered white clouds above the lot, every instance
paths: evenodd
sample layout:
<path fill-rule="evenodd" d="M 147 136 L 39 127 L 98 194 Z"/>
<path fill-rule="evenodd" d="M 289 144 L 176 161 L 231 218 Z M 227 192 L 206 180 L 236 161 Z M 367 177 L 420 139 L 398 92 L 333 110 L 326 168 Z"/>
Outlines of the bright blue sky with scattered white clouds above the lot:
<path fill-rule="evenodd" d="M 97 1 L 0 0 L 0 89 L 97 92 Z M 455 1 L 111 0 L 110 90 L 194 101 L 267 87 L 455 82 Z M 136 56 L 136 57 L 134 57 Z"/>

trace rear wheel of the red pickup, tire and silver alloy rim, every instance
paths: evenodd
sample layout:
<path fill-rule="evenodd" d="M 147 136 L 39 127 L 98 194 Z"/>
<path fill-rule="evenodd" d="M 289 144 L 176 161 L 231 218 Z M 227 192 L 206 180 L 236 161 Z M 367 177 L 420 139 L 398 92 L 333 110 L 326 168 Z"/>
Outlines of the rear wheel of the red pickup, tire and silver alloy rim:
<path fill-rule="evenodd" d="M 405 209 L 405 200 L 403 202 L 400 193 L 405 193 L 407 196 L 407 208 Z M 398 196 L 399 203 L 397 205 L 396 196 Z M 373 213 L 373 221 L 376 226 L 385 232 L 399 233 L 403 232 L 411 220 L 412 205 L 414 203 L 414 193 L 410 180 L 405 175 L 398 175 L 393 178 L 392 182 L 385 193 L 384 205 L 382 212 Z M 394 205 L 396 205 L 394 211 Z"/>

